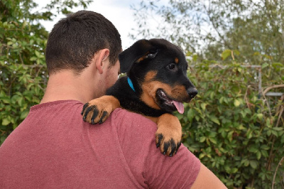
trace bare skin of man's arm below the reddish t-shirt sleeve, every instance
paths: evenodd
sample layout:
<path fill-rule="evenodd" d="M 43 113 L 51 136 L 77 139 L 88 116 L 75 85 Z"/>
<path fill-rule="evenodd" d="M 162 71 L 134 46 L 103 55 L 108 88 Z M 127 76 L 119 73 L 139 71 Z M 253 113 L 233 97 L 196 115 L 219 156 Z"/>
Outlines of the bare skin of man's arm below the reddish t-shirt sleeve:
<path fill-rule="evenodd" d="M 226 188 L 226 186 L 217 178 L 214 173 L 212 173 L 207 167 L 205 167 L 202 163 L 200 164 L 200 173 L 198 173 L 195 182 L 193 183 L 192 189 L 195 188 L 217 188 L 222 189 Z"/>

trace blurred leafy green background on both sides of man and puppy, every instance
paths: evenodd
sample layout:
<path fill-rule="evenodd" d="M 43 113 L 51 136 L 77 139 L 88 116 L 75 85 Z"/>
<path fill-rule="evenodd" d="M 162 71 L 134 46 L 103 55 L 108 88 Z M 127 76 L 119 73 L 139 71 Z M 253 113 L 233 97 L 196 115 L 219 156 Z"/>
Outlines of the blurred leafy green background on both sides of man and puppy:
<path fill-rule="evenodd" d="M 0 144 L 43 97 L 40 21 L 91 2 L 53 0 L 33 12 L 32 0 L 0 1 Z M 199 95 L 176 114 L 185 146 L 228 188 L 284 188 L 284 1 L 145 0 L 131 9 L 131 38 L 166 38 L 187 55 Z"/>

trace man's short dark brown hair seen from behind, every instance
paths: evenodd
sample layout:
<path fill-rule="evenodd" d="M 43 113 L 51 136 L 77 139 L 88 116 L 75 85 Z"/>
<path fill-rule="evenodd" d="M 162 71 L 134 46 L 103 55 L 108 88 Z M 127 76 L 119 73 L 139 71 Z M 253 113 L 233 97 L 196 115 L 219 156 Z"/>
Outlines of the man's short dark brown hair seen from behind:
<path fill-rule="evenodd" d="M 109 49 L 110 66 L 121 53 L 121 38 L 114 25 L 99 13 L 78 11 L 62 18 L 50 32 L 45 51 L 49 74 L 72 70 L 80 74 L 94 54 Z"/>

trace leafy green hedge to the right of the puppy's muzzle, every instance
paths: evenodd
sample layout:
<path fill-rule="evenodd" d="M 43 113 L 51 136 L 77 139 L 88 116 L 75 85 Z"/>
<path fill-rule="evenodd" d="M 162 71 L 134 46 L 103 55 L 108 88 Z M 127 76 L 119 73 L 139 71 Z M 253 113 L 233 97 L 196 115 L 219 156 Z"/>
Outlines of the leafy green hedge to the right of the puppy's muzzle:
<path fill-rule="evenodd" d="M 189 71 L 199 93 L 176 114 L 185 146 L 229 188 L 282 188 L 284 169 L 276 167 L 284 156 L 283 99 L 259 94 L 258 70 L 213 63 Z M 263 84 L 283 84 L 283 65 L 262 67 Z"/>

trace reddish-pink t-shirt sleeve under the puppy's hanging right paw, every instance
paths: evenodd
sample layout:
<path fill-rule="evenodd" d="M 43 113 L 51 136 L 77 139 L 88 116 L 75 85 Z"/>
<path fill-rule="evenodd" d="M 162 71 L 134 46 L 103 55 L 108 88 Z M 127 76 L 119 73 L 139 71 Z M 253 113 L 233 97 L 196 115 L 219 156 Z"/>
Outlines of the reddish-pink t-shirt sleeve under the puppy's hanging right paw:
<path fill-rule="evenodd" d="M 122 112 L 121 112 L 122 111 Z M 156 124 L 150 119 L 116 111 L 116 127 L 126 162 L 137 180 L 149 188 L 190 188 L 200 171 L 200 160 L 183 144 L 173 157 L 155 147 Z"/>

